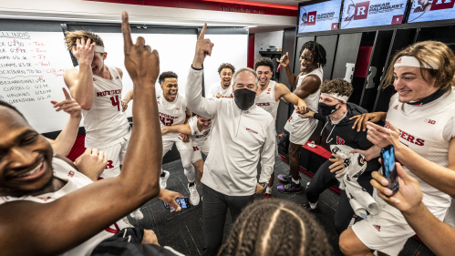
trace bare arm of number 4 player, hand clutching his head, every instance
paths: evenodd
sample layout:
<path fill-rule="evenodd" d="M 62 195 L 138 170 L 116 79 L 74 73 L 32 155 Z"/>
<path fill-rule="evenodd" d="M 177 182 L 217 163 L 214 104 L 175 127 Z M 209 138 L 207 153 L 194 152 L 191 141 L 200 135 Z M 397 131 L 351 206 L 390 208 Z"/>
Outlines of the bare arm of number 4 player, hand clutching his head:
<path fill-rule="evenodd" d="M 91 63 L 95 54 L 95 43 L 90 44 L 84 38 L 78 39 L 77 46 L 71 52 L 78 58 L 79 70 L 68 69 L 63 76 L 71 96 L 78 101 L 82 109 L 90 110 L 95 98 L 95 87 L 93 87 L 93 74 Z"/>

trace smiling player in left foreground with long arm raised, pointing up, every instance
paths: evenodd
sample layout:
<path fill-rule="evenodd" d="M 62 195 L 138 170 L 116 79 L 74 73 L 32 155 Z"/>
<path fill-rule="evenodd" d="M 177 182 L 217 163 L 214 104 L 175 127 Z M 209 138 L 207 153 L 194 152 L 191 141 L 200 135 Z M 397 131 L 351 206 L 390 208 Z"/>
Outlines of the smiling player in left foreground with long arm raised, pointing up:
<path fill-rule="evenodd" d="M 93 182 L 89 178 L 96 179 L 106 167 L 103 153 L 88 148 L 76 165 L 53 155 L 47 139 L 16 108 L 0 101 L 2 255 L 90 255 L 100 241 L 126 227 L 119 219 L 155 196 L 178 206 L 173 200 L 178 193 L 160 190 L 161 156 L 154 153 L 161 147 L 160 126 L 150 118 L 158 112 L 150 98 L 155 97 L 159 56 L 144 47 L 142 37 L 132 44 L 126 13 L 122 31 L 138 120 L 118 177 Z"/>

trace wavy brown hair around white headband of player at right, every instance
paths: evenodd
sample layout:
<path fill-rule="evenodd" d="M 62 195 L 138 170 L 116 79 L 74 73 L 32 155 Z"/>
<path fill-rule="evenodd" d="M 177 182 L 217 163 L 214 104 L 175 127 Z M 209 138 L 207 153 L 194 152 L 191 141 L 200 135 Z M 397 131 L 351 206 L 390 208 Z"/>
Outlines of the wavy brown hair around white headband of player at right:
<path fill-rule="evenodd" d="M 443 91 L 449 91 L 455 86 L 455 56 L 449 46 L 438 41 L 424 41 L 408 46 L 399 51 L 390 62 L 386 76 L 382 80 L 381 87 L 385 88 L 393 85 L 395 77 L 394 64 L 401 56 L 414 56 L 419 60 L 420 67 L 422 64 L 439 65 L 439 69 L 420 68 L 420 74 L 426 82 L 429 82 L 422 71 L 428 70 L 429 76 L 435 78 L 435 86 Z"/>

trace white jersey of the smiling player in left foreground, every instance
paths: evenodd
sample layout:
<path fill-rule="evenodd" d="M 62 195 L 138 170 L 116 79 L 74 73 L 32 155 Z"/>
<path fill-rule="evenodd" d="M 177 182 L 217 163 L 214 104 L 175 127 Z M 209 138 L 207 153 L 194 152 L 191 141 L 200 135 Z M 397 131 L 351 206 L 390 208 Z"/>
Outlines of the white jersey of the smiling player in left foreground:
<path fill-rule="evenodd" d="M 54 171 L 54 176 L 57 177 L 58 179 L 62 179 L 67 181 L 67 184 L 63 186 L 63 188 L 58 189 L 55 192 L 50 192 L 46 194 L 42 194 L 39 196 L 25 196 L 25 197 L 20 197 L 20 198 L 14 198 L 14 197 L 2 197 L 2 200 L 0 200 L 0 204 L 7 203 L 9 201 L 16 201 L 16 200 L 30 200 L 34 201 L 37 203 L 48 203 L 55 201 L 61 197 L 64 197 L 70 192 L 73 192 L 77 189 L 81 189 L 88 184 L 93 183 L 91 179 L 88 179 L 87 176 L 84 174 L 78 172 L 78 170 L 74 169 L 72 166 L 67 164 L 62 159 L 57 159 L 53 158 L 52 159 L 52 169 Z M 117 227 L 119 229 L 117 229 Z M 103 240 L 110 238 L 111 236 L 114 235 L 113 230 L 116 232 L 125 228 L 128 228 L 129 225 L 127 225 L 123 220 L 119 220 L 116 222 L 116 224 L 110 225 L 110 227 L 106 230 L 102 230 L 99 232 L 97 235 L 93 236 L 90 238 L 88 241 L 84 241 L 83 243 L 79 244 L 76 248 L 71 249 L 70 251 L 67 251 L 63 254 L 64 256 L 88 256 L 91 254 L 93 249 Z M 71 230 L 68 230 L 71 231 Z M 52 241 L 49 241 L 52 242 Z"/>

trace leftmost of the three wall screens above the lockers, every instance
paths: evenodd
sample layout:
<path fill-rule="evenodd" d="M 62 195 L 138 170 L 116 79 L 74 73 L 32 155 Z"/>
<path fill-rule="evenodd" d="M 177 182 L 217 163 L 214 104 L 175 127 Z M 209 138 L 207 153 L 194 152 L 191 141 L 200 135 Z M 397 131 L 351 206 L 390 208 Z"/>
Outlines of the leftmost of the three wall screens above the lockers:
<path fill-rule="evenodd" d="M 313 5 L 300 5 L 298 33 L 336 30 L 341 0 L 324 1 Z"/>

